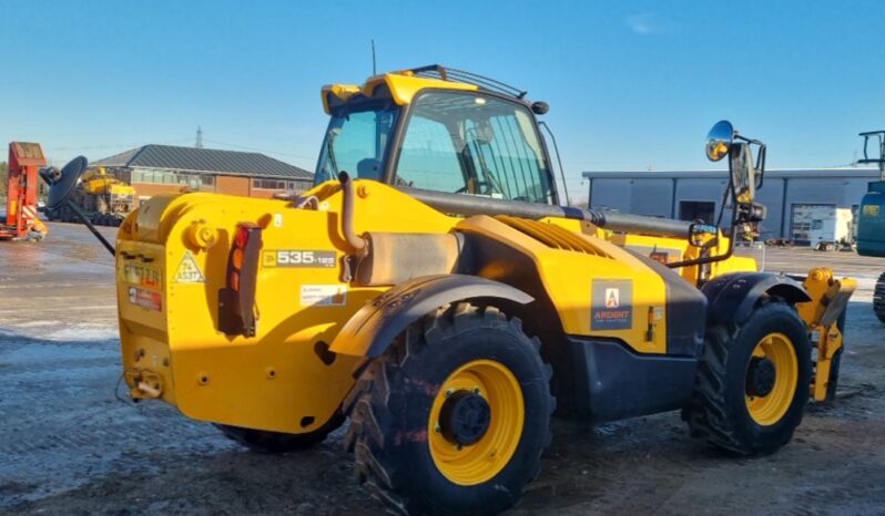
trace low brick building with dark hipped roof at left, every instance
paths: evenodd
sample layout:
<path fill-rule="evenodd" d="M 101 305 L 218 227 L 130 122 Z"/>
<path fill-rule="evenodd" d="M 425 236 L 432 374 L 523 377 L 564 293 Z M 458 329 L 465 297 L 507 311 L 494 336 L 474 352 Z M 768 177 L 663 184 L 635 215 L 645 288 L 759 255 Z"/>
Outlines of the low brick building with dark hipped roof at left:
<path fill-rule="evenodd" d="M 264 154 L 172 145 L 143 145 L 90 166 L 132 185 L 141 200 L 184 190 L 271 197 L 305 190 L 314 180 L 312 173 Z"/>

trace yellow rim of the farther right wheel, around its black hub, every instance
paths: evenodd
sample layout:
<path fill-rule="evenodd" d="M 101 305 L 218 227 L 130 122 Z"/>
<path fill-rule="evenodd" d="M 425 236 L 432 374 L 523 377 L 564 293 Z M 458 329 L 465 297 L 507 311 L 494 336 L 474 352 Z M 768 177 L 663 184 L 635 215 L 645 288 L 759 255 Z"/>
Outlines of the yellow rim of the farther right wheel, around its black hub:
<path fill-rule="evenodd" d="M 793 342 L 783 333 L 763 337 L 753 349 L 753 357 L 767 359 L 774 364 L 775 376 L 771 391 L 764 396 L 744 394 L 750 415 L 756 423 L 767 426 L 781 421 L 793 403 L 798 381 L 798 359 Z"/>

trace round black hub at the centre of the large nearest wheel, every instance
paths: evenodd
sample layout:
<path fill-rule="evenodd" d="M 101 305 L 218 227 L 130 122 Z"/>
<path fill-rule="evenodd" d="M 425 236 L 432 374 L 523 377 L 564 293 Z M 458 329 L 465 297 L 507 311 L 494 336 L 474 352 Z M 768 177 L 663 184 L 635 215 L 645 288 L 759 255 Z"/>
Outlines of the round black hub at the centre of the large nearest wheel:
<path fill-rule="evenodd" d="M 461 389 L 442 403 L 439 427 L 447 441 L 462 446 L 475 444 L 486 435 L 491 423 L 491 409 L 485 398 Z"/>

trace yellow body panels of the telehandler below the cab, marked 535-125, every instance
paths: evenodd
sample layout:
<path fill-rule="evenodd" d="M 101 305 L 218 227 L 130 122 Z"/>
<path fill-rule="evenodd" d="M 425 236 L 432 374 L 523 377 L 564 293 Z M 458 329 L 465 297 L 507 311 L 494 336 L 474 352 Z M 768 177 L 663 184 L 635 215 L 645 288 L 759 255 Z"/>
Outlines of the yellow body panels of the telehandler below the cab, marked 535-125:
<path fill-rule="evenodd" d="M 380 183 L 355 186 L 357 234 L 459 230 L 503 241 L 531 260 L 567 333 L 619 338 L 641 353 L 665 352 L 664 282 L 622 246 L 657 245 L 689 257 L 684 242 L 624 241 L 561 218 L 457 218 Z M 340 188 L 329 182 L 308 195 L 317 197 L 316 209 L 276 199 L 159 195 L 126 218 L 118 234 L 116 285 L 124 375 L 133 396 L 160 398 L 197 420 L 289 433 L 316 430 L 338 410 L 362 351 L 345 345 L 329 361 L 327 347 L 364 303 L 391 286 L 342 280 L 348 247 L 339 229 Z M 226 336 L 217 320 L 232 235 L 244 221 L 263 228 L 252 338 Z M 279 266 L 276 254 L 293 250 L 332 251 L 335 264 Z M 508 267 L 489 262 L 481 274 L 496 279 L 511 272 Z M 755 264 L 731 258 L 713 272 L 740 268 L 754 270 Z M 630 329 L 590 330 L 590 286 L 603 280 L 634 286 Z"/>

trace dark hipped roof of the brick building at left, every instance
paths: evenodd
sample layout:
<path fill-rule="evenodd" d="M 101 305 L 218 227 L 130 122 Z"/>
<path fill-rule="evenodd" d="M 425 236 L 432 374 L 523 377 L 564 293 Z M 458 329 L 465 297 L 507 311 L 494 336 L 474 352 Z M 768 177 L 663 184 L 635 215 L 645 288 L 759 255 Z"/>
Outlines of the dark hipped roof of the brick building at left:
<path fill-rule="evenodd" d="M 197 174 L 225 174 L 250 177 L 313 179 L 304 168 L 258 153 L 218 148 L 143 145 L 92 163 L 93 166 L 129 168 L 165 168 Z"/>

